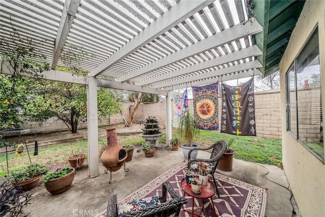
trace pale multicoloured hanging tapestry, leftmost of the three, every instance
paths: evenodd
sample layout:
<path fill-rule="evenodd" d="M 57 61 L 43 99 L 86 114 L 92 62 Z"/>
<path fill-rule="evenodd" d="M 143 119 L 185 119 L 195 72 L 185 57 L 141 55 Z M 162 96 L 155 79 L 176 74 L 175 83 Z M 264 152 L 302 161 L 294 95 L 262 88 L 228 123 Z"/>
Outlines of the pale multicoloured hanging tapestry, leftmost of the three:
<path fill-rule="evenodd" d="M 183 116 L 188 109 L 187 89 L 172 91 L 174 115 L 173 115 L 173 127 L 177 128 L 178 118 Z"/>

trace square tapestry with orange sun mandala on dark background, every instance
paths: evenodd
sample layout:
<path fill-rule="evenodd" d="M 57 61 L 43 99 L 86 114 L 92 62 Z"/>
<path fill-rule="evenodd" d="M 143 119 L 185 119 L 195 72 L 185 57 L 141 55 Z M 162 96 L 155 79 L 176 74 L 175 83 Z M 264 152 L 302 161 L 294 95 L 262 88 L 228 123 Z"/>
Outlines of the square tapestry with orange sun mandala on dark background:
<path fill-rule="evenodd" d="M 192 87 L 194 116 L 201 130 L 218 130 L 218 83 Z"/>

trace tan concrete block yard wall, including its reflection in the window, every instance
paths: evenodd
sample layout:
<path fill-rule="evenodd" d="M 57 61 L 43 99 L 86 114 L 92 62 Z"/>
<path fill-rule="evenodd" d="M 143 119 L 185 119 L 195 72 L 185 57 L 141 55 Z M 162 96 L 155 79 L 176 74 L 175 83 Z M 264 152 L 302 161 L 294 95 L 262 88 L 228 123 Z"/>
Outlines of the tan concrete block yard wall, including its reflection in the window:
<path fill-rule="evenodd" d="M 319 126 L 312 125 L 311 122 L 311 111 L 306 110 L 307 106 L 312 103 L 312 89 L 301 90 L 299 94 L 305 99 L 300 104 L 302 112 L 306 114 L 306 123 L 301 122 L 300 129 L 301 134 L 305 133 L 306 140 L 312 141 L 313 139 L 319 139 Z M 122 114 L 127 121 L 130 117 L 134 103 L 133 102 L 122 102 L 123 109 Z M 221 126 L 221 97 L 218 98 L 219 108 L 219 126 Z M 304 106 L 305 105 L 305 106 Z M 193 100 L 188 101 L 188 108 L 190 113 L 193 114 Z M 310 106 L 309 106 L 310 108 Z M 255 122 L 256 122 L 256 136 L 263 138 L 275 138 L 281 139 L 281 108 L 280 108 L 280 91 L 267 91 L 255 93 Z M 154 115 L 159 121 L 159 126 L 165 128 L 166 125 L 166 102 L 155 102 L 155 103 L 141 103 L 139 105 L 137 115 L 134 119 L 134 123 L 145 119 L 146 115 Z M 110 121 L 99 121 L 99 126 L 113 125 L 117 123 L 123 123 L 123 117 L 121 114 L 114 114 L 110 116 Z M 308 121 L 308 123 L 307 123 Z M 30 129 L 34 133 L 48 133 L 57 132 L 61 130 L 68 130 L 68 127 L 61 121 L 57 121 L 55 118 L 50 118 L 43 123 L 42 127 L 38 126 L 38 123 L 29 122 L 24 126 Z M 87 122 L 80 123 L 78 129 L 87 128 Z M 308 131 L 308 132 L 307 132 Z M 318 133 L 317 133 L 318 132 Z"/>

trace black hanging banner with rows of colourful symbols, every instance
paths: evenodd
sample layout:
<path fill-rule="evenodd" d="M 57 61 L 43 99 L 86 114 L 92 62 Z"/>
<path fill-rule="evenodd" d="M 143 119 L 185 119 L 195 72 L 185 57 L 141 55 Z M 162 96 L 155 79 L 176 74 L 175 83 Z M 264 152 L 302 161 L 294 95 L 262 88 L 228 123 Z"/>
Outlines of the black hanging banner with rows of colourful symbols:
<path fill-rule="evenodd" d="M 254 79 L 240 86 L 222 83 L 221 133 L 256 136 Z"/>

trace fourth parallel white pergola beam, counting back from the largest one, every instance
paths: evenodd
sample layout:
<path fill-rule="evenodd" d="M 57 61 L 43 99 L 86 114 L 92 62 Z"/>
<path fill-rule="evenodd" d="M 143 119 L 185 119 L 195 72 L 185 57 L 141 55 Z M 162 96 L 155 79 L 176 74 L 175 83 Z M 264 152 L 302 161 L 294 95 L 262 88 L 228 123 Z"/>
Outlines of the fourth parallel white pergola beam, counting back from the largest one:
<path fill-rule="evenodd" d="M 157 84 L 157 85 L 152 85 L 152 87 L 153 88 L 164 88 L 164 87 L 168 87 L 168 86 L 178 85 L 181 83 L 188 83 L 188 82 L 192 82 L 192 81 L 196 81 L 196 80 L 203 80 L 203 79 L 207 79 L 207 78 L 211 78 L 211 77 L 222 76 L 222 75 L 226 75 L 226 74 L 230 74 L 230 73 L 240 72 L 240 71 L 254 69 L 254 68 L 261 68 L 261 67 L 262 67 L 262 65 L 259 63 L 259 61 L 254 60 L 254 61 L 249 61 L 246 63 L 242 63 L 242 64 L 230 66 L 230 67 L 225 67 L 225 68 L 222 68 L 219 70 L 212 70 L 210 72 L 205 72 L 205 73 L 201 73 L 198 75 L 188 76 L 188 77 L 182 78 L 182 79 L 177 79 L 174 81 L 169 81 L 169 82 L 165 82 L 165 83 L 161 83 L 161 84 Z M 191 85 L 192 85 L 192 83 L 191 83 Z"/>

